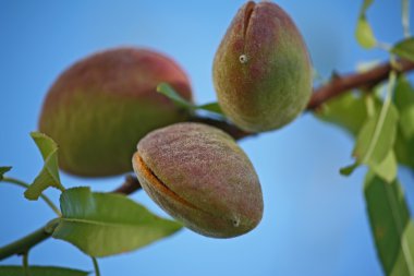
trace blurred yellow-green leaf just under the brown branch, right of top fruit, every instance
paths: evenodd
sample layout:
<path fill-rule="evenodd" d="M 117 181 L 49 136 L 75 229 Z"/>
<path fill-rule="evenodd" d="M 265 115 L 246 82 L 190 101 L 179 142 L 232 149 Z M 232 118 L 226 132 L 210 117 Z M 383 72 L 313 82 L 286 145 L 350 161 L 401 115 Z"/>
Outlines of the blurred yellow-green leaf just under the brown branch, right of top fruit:
<path fill-rule="evenodd" d="M 325 103 L 314 115 L 356 136 L 367 117 L 365 97 L 344 93 Z"/>

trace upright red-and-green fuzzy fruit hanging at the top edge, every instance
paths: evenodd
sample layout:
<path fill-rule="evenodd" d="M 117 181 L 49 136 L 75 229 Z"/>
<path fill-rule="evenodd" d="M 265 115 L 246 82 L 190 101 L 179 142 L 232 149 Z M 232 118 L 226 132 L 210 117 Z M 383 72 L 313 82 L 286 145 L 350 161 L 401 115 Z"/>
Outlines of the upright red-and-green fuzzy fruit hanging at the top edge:
<path fill-rule="evenodd" d="M 239 10 L 217 50 L 212 79 L 224 113 L 251 132 L 291 122 L 312 93 L 312 64 L 302 35 L 269 1 L 249 1 Z"/>

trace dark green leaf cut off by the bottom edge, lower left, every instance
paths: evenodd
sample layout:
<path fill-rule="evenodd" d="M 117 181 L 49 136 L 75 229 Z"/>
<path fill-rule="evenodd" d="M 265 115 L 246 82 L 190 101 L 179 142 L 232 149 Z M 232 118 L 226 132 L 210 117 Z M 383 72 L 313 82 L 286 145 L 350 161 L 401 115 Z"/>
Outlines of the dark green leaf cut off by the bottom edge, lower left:
<path fill-rule="evenodd" d="M 86 276 L 89 273 L 56 266 L 31 266 L 31 276 Z M 0 266 L 0 276 L 25 276 L 23 266 Z"/>

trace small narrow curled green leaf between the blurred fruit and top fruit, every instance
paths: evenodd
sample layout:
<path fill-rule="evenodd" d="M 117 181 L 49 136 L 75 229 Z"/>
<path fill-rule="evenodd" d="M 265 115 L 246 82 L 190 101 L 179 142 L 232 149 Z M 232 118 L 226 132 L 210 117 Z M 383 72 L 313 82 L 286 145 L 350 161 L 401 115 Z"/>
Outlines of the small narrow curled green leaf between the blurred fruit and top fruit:
<path fill-rule="evenodd" d="M 209 112 L 214 112 L 220 116 L 224 116 L 218 103 L 210 103 L 200 106 L 193 105 L 193 103 L 181 97 L 176 91 L 168 83 L 160 83 L 157 86 L 157 92 L 169 97 L 179 107 L 186 108 L 188 110 L 203 109 Z"/>

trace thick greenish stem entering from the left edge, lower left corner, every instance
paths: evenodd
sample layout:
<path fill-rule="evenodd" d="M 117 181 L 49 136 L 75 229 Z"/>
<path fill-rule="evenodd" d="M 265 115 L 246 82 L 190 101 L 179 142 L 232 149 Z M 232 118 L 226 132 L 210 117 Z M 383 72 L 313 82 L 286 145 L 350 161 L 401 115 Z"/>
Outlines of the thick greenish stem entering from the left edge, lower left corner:
<path fill-rule="evenodd" d="M 14 254 L 25 254 L 31 248 L 51 237 L 58 220 L 53 219 L 36 231 L 0 248 L 0 261 Z"/>

